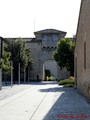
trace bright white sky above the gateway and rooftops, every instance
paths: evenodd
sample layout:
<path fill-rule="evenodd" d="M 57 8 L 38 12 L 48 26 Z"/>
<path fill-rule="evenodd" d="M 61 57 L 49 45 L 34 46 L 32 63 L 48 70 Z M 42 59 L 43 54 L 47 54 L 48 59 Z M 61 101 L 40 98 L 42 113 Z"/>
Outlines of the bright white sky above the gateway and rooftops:
<path fill-rule="evenodd" d="M 0 0 L 0 36 L 34 37 L 33 32 L 57 29 L 76 33 L 81 0 Z"/>

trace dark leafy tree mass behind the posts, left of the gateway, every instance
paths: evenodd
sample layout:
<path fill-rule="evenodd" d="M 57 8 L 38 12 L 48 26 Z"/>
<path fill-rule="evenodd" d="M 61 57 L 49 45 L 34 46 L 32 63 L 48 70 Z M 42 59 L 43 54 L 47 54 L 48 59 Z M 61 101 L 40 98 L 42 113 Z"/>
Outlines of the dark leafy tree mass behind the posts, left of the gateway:
<path fill-rule="evenodd" d="M 26 49 L 25 41 L 22 38 L 6 39 L 6 51 L 11 53 L 11 60 L 13 61 L 14 82 L 18 80 L 18 63 L 20 63 L 21 72 L 26 73 L 27 67 L 32 67 L 32 59 L 30 56 L 30 48 Z"/>

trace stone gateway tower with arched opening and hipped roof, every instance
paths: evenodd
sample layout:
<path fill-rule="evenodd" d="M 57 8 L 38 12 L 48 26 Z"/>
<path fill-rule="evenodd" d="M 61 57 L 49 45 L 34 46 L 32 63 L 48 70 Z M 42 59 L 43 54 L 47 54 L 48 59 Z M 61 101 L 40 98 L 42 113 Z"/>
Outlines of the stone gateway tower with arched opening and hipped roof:
<path fill-rule="evenodd" d="M 31 49 L 33 59 L 33 68 L 29 73 L 30 80 L 36 80 L 37 75 L 41 80 L 47 76 L 53 76 L 56 79 L 68 77 L 66 70 L 59 69 L 59 66 L 53 59 L 53 52 L 56 49 L 57 42 L 65 37 L 66 32 L 45 29 L 34 32 L 35 38 L 23 38 L 26 41 L 26 47 Z"/>

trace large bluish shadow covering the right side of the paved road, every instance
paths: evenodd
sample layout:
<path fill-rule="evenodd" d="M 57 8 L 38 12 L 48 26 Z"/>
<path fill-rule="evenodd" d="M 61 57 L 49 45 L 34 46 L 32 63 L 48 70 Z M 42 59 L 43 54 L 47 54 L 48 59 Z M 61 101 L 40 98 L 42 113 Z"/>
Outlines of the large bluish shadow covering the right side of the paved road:
<path fill-rule="evenodd" d="M 90 104 L 78 94 L 77 89 L 55 87 L 40 91 L 56 92 L 54 97 L 58 96 L 44 120 L 90 120 Z"/>

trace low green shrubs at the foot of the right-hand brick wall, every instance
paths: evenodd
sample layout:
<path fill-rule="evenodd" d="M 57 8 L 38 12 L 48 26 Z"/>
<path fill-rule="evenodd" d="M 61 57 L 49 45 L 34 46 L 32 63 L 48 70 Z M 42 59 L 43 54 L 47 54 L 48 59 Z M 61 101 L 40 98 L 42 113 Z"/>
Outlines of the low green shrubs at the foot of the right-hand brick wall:
<path fill-rule="evenodd" d="M 71 79 L 71 77 L 68 78 L 68 79 L 58 81 L 58 84 L 59 85 L 64 85 L 64 87 L 74 87 L 74 83 L 75 83 L 75 80 L 74 80 L 74 78 Z"/>

